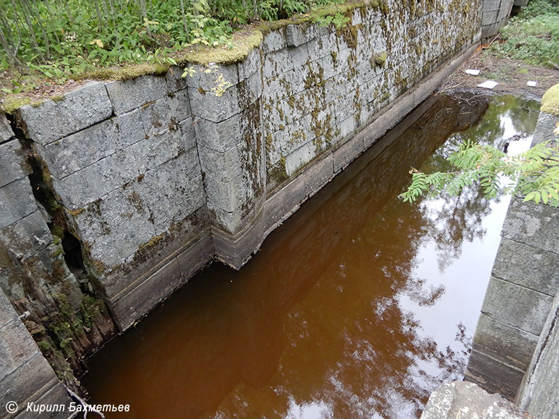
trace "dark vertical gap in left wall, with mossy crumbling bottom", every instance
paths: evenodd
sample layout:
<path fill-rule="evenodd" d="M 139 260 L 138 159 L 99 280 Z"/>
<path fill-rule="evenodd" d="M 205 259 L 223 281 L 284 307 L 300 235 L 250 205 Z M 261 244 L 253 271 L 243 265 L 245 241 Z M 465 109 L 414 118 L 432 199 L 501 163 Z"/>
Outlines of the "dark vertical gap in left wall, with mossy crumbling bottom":
<path fill-rule="evenodd" d="M 76 302 L 76 295 L 72 291 L 52 293 L 48 289 L 43 290 L 50 294 L 56 307 L 45 307 L 47 315 L 32 316 L 34 323 L 30 323 L 31 326 L 26 323 L 26 326 L 59 379 L 78 394 L 85 395 L 76 377 L 87 371 L 87 356 L 114 336 L 118 332 L 117 326 L 112 320 L 102 288 L 97 286 L 96 278 L 87 272 L 83 245 L 73 233 L 65 208 L 52 188 L 48 167 L 36 152 L 34 142 L 27 138 L 21 118 L 17 115 L 6 117 L 31 167 L 29 182 L 54 239 L 51 246 L 58 245 L 59 252 L 64 255 L 64 261 L 51 256 L 51 262 L 53 266 L 55 263 L 65 264 L 81 291 Z M 56 272 L 53 268 L 50 281 L 68 281 L 66 267 L 59 267 Z"/>

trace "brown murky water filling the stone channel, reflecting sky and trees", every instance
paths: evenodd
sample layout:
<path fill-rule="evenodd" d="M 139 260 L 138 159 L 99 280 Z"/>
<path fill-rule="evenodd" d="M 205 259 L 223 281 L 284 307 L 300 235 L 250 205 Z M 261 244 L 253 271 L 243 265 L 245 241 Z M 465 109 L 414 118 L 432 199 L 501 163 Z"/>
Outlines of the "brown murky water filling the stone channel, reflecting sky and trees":
<path fill-rule="evenodd" d="M 534 107 L 440 98 L 408 117 L 240 272 L 214 263 L 97 353 L 92 402 L 131 405 L 108 418 L 419 417 L 463 376 L 508 203 L 397 195 L 461 140 L 531 133 Z"/>

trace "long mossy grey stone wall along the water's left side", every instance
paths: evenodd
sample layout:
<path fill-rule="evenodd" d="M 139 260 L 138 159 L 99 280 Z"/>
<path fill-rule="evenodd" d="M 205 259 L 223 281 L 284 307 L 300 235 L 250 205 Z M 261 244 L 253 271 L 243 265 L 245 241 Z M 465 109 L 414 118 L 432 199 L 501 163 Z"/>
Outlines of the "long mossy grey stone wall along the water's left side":
<path fill-rule="evenodd" d="M 347 17 L 338 30 L 278 25 L 242 61 L 189 65 L 187 78 L 171 68 L 90 82 L 18 110 L 12 125 L 50 228 L 37 237 L 67 265 L 48 286 L 64 285 L 73 309 L 79 293 L 102 297 L 125 330 L 212 258 L 241 267 L 475 50 L 481 2 L 373 2 Z M 231 87 L 217 96 L 220 77 Z M 13 185 L 28 197 L 13 206 L 29 201 L 19 219 L 37 212 L 26 170 Z M 36 300 L 16 285 L 3 280 L 10 300 Z"/>

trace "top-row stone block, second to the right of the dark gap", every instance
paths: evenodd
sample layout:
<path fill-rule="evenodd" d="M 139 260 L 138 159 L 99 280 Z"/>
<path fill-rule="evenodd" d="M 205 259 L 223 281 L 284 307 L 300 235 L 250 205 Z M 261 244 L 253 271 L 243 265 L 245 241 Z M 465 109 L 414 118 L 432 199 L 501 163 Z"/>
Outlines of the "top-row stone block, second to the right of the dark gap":
<path fill-rule="evenodd" d="M 116 115 L 157 101 L 167 94 L 164 75 L 142 75 L 132 80 L 109 82 L 105 86 Z"/>

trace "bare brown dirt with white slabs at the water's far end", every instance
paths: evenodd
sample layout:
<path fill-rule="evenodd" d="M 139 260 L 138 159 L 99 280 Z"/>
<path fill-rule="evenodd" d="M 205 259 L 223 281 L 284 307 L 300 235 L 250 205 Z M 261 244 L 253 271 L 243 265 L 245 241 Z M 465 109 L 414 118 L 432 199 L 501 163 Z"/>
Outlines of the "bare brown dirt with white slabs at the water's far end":
<path fill-rule="evenodd" d="M 479 75 L 469 75 L 464 71 L 467 68 L 480 70 Z M 477 87 L 486 80 L 494 80 L 499 84 L 489 90 Z M 526 83 L 537 82 L 536 87 Z M 559 68 L 536 67 L 514 59 L 495 57 L 484 47 L 479 50 L 461 66 L 451 78 L 440 87 L 441 91 L 465 89 L 479 91 L 480 93 L 494 94 L 521 94 L 530 98 L 540 99 L 547 89 L 559 83 Z"/>

